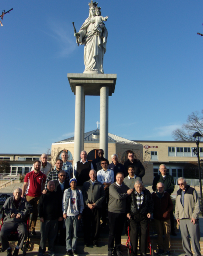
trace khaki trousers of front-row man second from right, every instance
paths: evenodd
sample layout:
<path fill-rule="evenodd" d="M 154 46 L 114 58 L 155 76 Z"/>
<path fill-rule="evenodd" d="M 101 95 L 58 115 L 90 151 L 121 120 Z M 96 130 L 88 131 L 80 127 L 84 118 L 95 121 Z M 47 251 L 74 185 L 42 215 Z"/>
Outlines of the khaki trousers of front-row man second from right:
<path fill-rule="evenodd" d="M 158 235 L 158 249 L 170 251 L 171 250 L 171 238 L 170 238 L 170 231 L 171 231 L 171 222 L 170 219 L 167 221 L 155 221 L 155 227 Z M 165 246 L 163 242 L 163 231 L 165 235 Z"/>

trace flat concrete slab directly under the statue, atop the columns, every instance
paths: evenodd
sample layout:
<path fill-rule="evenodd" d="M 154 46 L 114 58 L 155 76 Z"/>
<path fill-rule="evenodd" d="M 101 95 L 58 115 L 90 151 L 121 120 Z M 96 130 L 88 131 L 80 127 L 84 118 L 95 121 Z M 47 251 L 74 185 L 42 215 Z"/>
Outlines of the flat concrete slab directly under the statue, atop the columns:
<path fill-rule="evenodd" d="M 84 86 L 85 95 L 99 96 L 101 86 L 109 87 L 109 96 L 112 96 L 116 86 L 116 74 L 77 74 L 68 73 L 70 88 L 76 94 L 76 86 Z"/>

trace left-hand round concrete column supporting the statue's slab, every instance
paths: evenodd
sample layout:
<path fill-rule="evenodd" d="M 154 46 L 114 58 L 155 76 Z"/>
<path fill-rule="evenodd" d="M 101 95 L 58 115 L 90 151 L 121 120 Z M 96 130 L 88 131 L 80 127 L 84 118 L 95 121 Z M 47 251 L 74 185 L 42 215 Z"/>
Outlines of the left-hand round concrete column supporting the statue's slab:
<path fill-rule="evenodd" d="M 82 141 L 84 138 L 84 86 L 76 85 L 75 93 L 75 140 L 74 140 L 74 162 L 80 160 L 80 152 L 83 150 Z"/>

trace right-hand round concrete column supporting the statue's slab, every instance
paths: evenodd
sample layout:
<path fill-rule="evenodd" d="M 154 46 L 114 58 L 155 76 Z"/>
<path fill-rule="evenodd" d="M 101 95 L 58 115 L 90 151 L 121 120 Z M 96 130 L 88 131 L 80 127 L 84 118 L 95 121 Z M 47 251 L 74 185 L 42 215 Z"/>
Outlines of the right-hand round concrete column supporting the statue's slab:
<path fill-rule="evenodd" d="M 104 150 L 104 157 L 108 159 L 108 133 L 109 133 L 109 87 L 100 89 L 100 136 L 99 148 Z"/>

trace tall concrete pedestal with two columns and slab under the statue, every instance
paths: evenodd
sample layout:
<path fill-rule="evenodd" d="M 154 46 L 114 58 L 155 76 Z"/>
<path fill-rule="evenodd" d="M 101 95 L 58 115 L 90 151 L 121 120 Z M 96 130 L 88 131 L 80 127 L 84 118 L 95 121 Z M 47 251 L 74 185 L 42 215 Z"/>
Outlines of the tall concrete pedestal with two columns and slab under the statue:
<path fill-rule="evenodd" d="M 100 138 L 99 147 L 108 158 L 109 96 L 116 86 L 116 74 L 68 74 L 68 81 L 75 101 L 74 163 L 80 160 L 84 150 L 85 95 L 100 95 Z M 94 118 L 94 117 L 93 117 Z"/>

